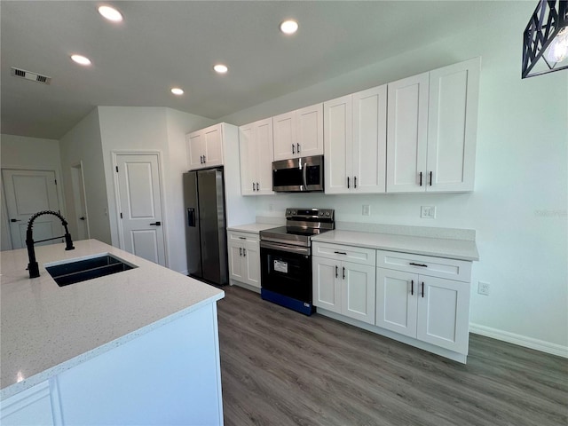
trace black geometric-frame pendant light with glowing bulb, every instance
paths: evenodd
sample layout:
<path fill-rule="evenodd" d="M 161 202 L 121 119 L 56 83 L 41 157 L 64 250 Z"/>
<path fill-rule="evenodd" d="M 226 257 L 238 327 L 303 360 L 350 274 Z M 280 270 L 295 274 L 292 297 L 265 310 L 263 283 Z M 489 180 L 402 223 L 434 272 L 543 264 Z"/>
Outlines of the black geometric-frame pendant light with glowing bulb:
<path fill-rule="evenodd" d="M 521 78 L 568 67 L 568 0 L 540 0 L 523 35 Z"/>

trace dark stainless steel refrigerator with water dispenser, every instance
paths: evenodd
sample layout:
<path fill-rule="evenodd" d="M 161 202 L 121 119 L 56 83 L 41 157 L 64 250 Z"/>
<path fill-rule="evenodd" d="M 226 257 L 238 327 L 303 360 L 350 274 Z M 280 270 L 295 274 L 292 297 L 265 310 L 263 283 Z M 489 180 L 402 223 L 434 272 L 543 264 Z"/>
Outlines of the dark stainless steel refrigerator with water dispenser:
<path fill-rule="evenodd" d="M 185 244 L 189 275 L 227 284 L 223 168 L 184 173 Z"/>

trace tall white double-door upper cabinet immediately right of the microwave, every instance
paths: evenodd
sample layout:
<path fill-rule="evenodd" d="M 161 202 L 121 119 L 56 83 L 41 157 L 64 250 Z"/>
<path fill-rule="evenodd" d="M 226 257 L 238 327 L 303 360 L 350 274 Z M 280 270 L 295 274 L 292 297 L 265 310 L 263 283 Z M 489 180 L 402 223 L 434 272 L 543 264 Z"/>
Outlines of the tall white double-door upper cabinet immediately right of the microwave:
<path fill-rule="evenodd" d="M 384 193 L 387 86 L 324 103 L 326 193 Z"/>

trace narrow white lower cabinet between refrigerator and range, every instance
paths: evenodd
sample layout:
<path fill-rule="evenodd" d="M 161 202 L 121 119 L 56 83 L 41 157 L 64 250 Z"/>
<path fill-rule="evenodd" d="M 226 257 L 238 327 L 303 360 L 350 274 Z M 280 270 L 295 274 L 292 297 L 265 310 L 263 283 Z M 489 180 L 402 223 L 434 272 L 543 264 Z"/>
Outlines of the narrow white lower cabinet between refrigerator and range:
<path fill-rule="evenodd" d="M 260 289 L 260 247 L 258 234 L 229 231 L 229 278 Z M 235 282 L 233 282 L 234 284 Z"/>

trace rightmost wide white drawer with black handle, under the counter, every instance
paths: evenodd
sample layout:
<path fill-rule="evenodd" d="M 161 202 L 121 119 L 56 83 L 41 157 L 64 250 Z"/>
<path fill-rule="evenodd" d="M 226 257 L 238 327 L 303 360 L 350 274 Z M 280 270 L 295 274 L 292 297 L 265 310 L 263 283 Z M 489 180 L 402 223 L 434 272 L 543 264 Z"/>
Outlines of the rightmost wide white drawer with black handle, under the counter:
<path fill-rule="evenodd" d="M 376 250 L 376 265 L 380 268 L 420 273 L 430 277 L 465 282 L 471 280 L 471 262 L 465 260 Z"/>

